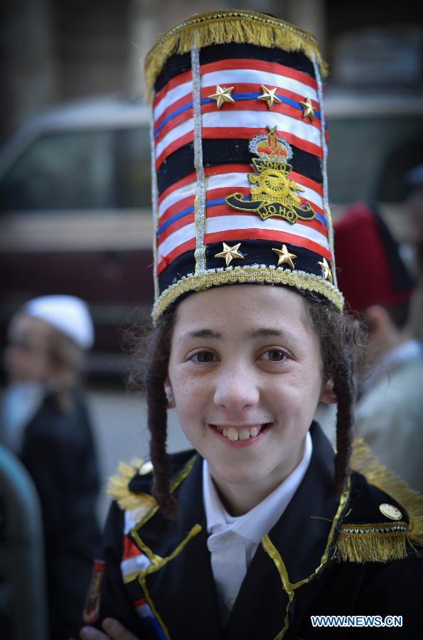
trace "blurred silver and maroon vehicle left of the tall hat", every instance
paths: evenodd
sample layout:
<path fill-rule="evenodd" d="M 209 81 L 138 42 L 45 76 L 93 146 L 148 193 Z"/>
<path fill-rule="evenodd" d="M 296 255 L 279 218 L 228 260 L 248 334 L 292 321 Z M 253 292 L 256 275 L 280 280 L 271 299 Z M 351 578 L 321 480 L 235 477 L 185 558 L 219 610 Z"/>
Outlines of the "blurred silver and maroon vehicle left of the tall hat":
<path fill-rule="evenodd" d="M 119 326 L 151 305 L 149 110 L 121 97 L 34 117 L 0 151 L 0 331 L 41 294 L 95 321 L 91 373 L 119 370 Z"/>

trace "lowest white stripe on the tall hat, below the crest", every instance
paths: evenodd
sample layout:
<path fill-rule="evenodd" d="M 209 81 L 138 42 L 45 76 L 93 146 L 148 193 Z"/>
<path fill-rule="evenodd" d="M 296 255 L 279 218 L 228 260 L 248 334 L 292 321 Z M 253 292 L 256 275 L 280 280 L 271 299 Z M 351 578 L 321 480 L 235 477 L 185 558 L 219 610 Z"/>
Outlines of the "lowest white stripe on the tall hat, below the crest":
<path fill-rule="evenodd" d="M 266 229 L 279 231 L 279 233 L 289 233 L 296 235 L 298 238 L 306 238 L 316 244 L 328 249 L 328 241 L 326 237 L 311 227 L 306 225 L 291 225 L 286 220 L 278 218 L 268 218 L 264 223 L 259 215 L 252 217 L 250 215 L 223 215 L 216 218 L 207 218 L 205 233 L 217 233 L 218 231 L 232 232 L 243 229 Z M 166 256 L 176 249 L 183 242 L 188 242 L 196 237 L 196 225 L 193 223 L 185 225 L 181 229 L 171 233 L 163 242 L 159 241 L 159 256 Z M 281 235 L 283 242 L 283 235 Z"/>

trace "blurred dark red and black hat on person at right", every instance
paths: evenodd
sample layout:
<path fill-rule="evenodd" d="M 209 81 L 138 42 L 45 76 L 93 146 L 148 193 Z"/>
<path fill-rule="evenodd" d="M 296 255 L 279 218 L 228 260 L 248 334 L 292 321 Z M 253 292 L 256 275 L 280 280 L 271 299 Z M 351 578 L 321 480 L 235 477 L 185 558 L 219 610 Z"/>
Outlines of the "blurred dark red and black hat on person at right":
<path fill-rule="evenodd" d="M 335 225 L 338 284 L 351 311 L 406 302 L 415 288 L 400 246 L 378 211 L 357 202 Z"/>

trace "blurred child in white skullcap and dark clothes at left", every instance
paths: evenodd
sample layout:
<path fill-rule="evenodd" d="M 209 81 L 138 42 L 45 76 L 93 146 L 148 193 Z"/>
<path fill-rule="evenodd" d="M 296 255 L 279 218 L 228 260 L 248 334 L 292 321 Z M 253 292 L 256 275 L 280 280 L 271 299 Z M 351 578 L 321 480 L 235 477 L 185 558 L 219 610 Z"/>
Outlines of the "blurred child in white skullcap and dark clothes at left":
<path fill-rule="evenodd" d="M 19 309 L 5 352 L 8 385 L 0 436 L 20 457 L 40 496 L 51 640 L 80 626 L 99 528 L 99 473 L 92 425 L 78 387 L 94 332 L 87 305 L 45 296 Z"/>

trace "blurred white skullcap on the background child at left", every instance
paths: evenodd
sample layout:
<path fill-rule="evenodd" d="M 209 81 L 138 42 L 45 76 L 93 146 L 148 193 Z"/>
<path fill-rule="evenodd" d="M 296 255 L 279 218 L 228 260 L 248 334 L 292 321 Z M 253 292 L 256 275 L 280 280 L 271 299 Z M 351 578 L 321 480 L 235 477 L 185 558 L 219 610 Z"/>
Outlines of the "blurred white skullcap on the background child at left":
<path fill-rule="evenodd" d="M 82 349 L 94 344 L 94 326 L 87 304 L 75 296 L 41 296 L 23 306 L 28 316 L 43 320 Z"/>

